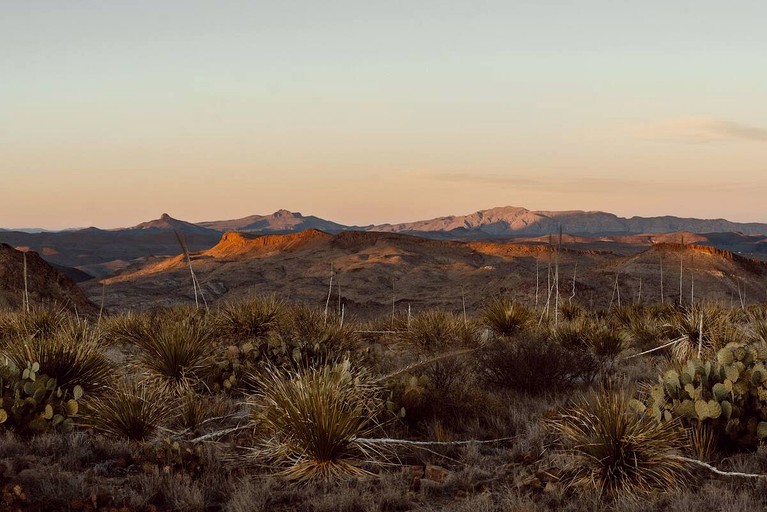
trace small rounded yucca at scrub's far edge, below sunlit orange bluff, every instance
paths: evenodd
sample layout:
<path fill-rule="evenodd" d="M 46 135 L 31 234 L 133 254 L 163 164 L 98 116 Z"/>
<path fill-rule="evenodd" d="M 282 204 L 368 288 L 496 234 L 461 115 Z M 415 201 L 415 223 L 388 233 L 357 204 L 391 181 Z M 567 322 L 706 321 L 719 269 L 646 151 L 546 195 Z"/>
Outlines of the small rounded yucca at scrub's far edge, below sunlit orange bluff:
<path fill-rule="evenodd" d="M 216 326 L 238 339 L 258 338 L 275 328 L 286 304 L 274 295 L 224 304 L 216 312 Z"/>

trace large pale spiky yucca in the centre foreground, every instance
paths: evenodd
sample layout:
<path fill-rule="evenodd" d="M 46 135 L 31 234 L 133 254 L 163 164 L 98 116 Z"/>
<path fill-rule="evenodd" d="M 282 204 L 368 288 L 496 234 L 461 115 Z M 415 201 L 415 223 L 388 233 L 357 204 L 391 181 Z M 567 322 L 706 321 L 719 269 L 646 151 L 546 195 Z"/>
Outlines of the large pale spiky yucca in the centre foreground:
<path fill-rule="evenodd" d="M 256 377 L 255 426 L 279 474 L 298 482 L 361 476 L 371 454 L 355 439 L 379 428 L 381 390 L 348 360 L 298 371 L 267 368 Z"/>

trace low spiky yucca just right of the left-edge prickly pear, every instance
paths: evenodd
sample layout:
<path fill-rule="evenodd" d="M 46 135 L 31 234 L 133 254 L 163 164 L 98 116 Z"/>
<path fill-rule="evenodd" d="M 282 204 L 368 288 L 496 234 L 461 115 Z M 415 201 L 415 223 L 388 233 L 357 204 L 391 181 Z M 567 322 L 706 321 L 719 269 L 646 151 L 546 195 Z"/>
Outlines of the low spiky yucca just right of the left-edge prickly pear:
<path fill-rule="evenodd" d="M 151 439 L 174 410 L 162 388 L 152 382 L 121 380 L 108 393 L 86 400 L 83 425 L 109 437 Z"/>

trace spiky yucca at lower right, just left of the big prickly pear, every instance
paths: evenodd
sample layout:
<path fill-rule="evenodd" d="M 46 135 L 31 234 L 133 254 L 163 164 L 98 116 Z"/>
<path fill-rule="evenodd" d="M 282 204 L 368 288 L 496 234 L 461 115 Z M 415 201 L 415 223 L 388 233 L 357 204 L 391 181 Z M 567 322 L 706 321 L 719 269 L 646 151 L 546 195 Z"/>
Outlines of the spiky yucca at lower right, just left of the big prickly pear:
<path fill-rule="evenodd" d="M 548 422 L 572 457 L 568 485 L 618 497 L 669 491 L 687 480 L 689 468 L 677 456 L 684 430 L 636 412 L 631 395 L 607 385 Z"/>

